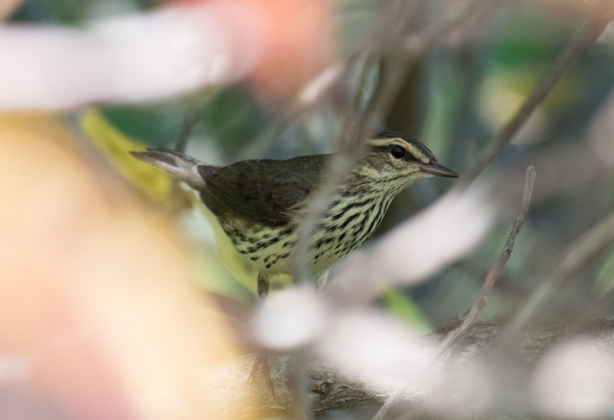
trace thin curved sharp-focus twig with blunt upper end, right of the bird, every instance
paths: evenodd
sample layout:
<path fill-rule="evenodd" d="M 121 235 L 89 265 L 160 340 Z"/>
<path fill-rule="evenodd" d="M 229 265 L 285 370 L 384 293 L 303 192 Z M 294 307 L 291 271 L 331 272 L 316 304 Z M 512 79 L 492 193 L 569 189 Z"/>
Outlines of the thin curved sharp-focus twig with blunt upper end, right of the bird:
<path fill-rule="evenodd" d="M 435 353 L 434 360 L 437 361 L 442 354 L 448 351 L 451 346 L 457 343 L 462 335 L 467 332 L 473 325 L 473 323 L 480 315 L 484 306 L 486 306 L 486 301 L 488 301 L 488 297 L 491 294 L 492 286 L 494 286 L 495 281 L 499 278 L 499 274 L 503 270 L 503 267 L 510 259 L 511 251 L 514 249 L 514 243 L 516 241 L 516 236 L 520 232 L 520 229 L 523 227 L 524 220 L 527 218 L 527 214 L 529 213 L 529 206 L 531 203 L 531 194 L 533 192 L 533 185 L 535 184 L 535 176 L 536 176 L 535 168 L 533 165 L 527 168 L 527 176 L 526 181 L 524 182 L 524 193 L 523 193 L 523 202 L 520 206 L 520 211 L 516 220 L 514 222 L 513 227 L 511 228 L 510 235 L 507 237 L 507 241 L 505 241 L 505 247 L 503 247 L 503 252 L 499 255 L 499 259 L 497 263 L 491 268 L 491 271 L 488 272 L 486 276 L 486 280 L 480 290 L 480 296 L 478 297 L 478 301 L 476 301 L 475 305 L 472 306 L 467 317 L 465 317 L 464 321 L 457 329 L 452 330 L 448 333 L 445 340 L 443 340 Z"/>

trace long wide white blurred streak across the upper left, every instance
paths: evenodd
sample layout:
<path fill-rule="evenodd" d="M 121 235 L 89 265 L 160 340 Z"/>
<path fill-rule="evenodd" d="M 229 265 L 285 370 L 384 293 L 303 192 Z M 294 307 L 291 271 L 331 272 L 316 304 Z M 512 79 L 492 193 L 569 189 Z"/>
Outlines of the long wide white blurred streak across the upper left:
<path fill-rule="evenodd" d="M 229 82 L 254 65 L 249 12 L 207 2 L 95 21 L 0 27 L 0 109 L 144 101 Z"/>

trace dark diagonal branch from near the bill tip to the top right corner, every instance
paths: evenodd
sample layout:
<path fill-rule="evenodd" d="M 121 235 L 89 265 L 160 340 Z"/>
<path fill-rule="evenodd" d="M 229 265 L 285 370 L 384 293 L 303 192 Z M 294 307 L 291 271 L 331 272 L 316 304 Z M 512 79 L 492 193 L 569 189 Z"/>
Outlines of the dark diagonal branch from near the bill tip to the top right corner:
<path fill-rule="evenodd" d="M 499 150 L 503 149 L 507 142 L 518 133 L 518 130 L 548 96 L 548 93 L 558 83 L 563 74 L 571 68 L 578 56 L 603 33 L 614 17 L 614 2 L 612 0 L 596 0 L 591 6 L 591 12 L 584 28 L 567 44 L 567 47 L 554 60 L 548 71 L 543 74 L 542 79 L 537 82 L 534 90 L 525 99 L 513 119 L 484 147 L 475 163 L 463 174 L 457 188 L 466 188 L 486 169 Z"/>

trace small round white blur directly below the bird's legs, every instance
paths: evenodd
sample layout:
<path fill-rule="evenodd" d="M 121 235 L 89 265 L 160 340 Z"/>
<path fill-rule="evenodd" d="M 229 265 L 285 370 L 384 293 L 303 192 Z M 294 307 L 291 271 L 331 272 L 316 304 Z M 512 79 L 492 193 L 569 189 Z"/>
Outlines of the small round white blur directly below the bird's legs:
<path fill-rule="evenodd" d="M 267 348 L 287 351 L 316 340 L 326 316 L 313 287 L 289 287 L 266 299 L 254 318 L 254 335 Z"/>

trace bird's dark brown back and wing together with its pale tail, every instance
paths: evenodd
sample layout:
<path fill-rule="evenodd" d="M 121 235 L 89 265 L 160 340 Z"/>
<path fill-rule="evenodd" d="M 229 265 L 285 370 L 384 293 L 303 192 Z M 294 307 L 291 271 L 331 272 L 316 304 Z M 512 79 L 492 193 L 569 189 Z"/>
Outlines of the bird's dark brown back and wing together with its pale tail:
<path fill-rule="evenodd" d="M 294 219 L 300 204 L 317 187 L 327 160 L 327 155 L 312 155 L 216 166 L 164 148 L 131 154 L 186 182 L 217 217 L 269 227 Z"/>

